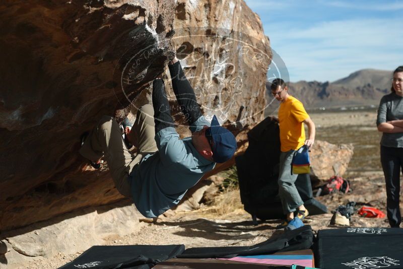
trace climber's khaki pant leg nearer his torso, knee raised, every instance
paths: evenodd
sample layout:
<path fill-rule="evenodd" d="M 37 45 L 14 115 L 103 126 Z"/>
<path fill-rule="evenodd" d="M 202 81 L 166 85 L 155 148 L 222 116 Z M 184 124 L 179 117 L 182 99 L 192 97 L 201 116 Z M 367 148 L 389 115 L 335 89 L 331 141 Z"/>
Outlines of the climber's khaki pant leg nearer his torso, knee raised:
<path fill-rule="evenodd" d="M 132 133 L 132 131 L 134 132 Z M 135 136 L 135 146 L 139 154 L 145 155 L 158 151 L 155 142 L 154 108 L 152 105 L 144 105 L 139 109 L 130 133 Z"/>

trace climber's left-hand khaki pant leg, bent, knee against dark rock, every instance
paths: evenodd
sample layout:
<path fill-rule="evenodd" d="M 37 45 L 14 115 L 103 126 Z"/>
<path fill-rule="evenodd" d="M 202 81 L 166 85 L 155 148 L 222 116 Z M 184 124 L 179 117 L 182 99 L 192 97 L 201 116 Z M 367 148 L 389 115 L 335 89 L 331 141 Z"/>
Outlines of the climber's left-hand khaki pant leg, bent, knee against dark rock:
<path fill-rule="evenodd" d="M 141 160 L 141 155 L 133 156 L 124 144 L 122 133 L 117 122 L 110 116 L 103 116 L 91 131 L 80 153 L 95 161 L 94 157 L 104 158 L 108 163 L 116 189 L 124 196 L 131 197 L 130 183 L 127 179 L 130 171 Z"/>

